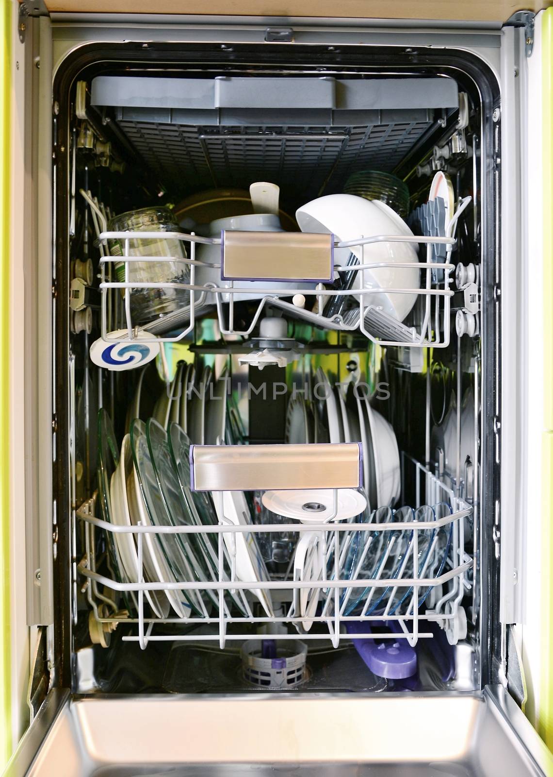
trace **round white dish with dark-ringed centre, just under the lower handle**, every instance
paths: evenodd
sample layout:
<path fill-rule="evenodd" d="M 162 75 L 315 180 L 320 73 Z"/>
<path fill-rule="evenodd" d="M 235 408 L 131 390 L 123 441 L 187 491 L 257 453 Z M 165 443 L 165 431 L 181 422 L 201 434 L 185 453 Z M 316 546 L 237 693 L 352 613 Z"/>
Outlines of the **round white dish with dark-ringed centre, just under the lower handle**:
<path fill-rule="evenodd" d="M 324 524 L 332 516 L 332 489 L 305 489 L 297 491 L 266 491 L 261 497 L 267 510 L 302 524 Z M 309 507 L 305 507 L 308 505 Z M 351 488 L 338 490 L 338 513 L 335 521 L 360 515 L 367 507 L 363 493 Z"/>

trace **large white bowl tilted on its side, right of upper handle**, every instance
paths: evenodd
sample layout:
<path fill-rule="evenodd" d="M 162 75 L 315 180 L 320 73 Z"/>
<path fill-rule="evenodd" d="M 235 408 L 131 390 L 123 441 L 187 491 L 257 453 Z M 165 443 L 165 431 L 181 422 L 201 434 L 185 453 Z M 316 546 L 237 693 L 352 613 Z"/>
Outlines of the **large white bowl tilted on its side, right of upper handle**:
<path fill-rule="evenodd" d="M 298 208 L 297 223 L 301 232 L 332 232 L 336 240 L 355 240 L 375 235 L 412 235 L 405 221 L 391 207 L 378 200 L 366 200 L 353 194 L 328 194 L 318 197 Z M 350 252 L 360 262 L 409 262 L 418 263 L 415 243 L 380 242 L 351 249 L 336 249 L 335 264 L 345 264 Z M 379 267 L 375 270 L 359 272 L 354 288 L 373 289 L 380 287 L 382 292 L 367 294 L 365 305 L 382 308 L 398 321 L 403 321 L 412 306 L 416 294 L 386 293 L 387 289 L 419 288 L 420 271 L 413 267 Z"/>

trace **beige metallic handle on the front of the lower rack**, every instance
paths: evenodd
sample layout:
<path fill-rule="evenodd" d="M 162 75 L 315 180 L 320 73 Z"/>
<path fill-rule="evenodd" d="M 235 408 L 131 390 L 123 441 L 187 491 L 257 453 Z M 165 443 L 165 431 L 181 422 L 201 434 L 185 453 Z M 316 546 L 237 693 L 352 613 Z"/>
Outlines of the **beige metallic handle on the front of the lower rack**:
<path fill-rule="evenodd" d="M 360 443 L 191 445 L 193 491 L 363 487 Z"/>

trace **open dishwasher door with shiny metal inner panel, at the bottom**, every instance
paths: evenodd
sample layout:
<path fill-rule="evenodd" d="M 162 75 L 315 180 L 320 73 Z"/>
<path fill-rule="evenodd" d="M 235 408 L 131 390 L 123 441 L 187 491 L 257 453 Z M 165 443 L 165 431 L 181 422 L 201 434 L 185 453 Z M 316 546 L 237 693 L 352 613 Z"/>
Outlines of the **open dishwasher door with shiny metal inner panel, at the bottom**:
<path fill-rule="evenodd" d="M 40 745 L 37 750 L 37 742 Z M 466 695 L 52 693 L 5 777 L 550 775 L 553 757 L 499 686 Z"/>

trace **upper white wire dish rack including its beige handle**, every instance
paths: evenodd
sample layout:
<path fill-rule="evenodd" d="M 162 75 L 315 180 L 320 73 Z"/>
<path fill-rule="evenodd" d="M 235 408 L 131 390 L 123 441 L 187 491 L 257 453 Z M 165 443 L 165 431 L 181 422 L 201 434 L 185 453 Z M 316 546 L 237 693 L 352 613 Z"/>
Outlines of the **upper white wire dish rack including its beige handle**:
<path fill-rule="evenodd" d="M 190 258 L 176 258 L 175 256 L 131 256 L 130 242 L 132 240 L 159 239 L 160 232 L 108 232 L 106 218 L 99 209 L 95 200 L 89 194 L 82 191 L 83 197 L 89 203 L 94 214 L 95 223 L 101 226 L 99 232 L 100 268 L 101 268 L 101 333 L 107 343 L 132 343 L 140 336 L 141 342 L 155 340 L 156 342 L 178 342 L 193 331 L 197 316 L 205 312 L 211 305 L 217 309 L 217 319 L 221 335 L 242 336 L 248 338 L 252 335 L 256 324 L 266 311 L 266 308 L 279 308 L 283 315 L 294 319 L 303 319 L 313 326 L 323 329 L 334 329 L 342 332 L 354 332 L 357 329 L 367 339 L 379 343 L 381 346 L 396 347 L 434 347 L 445 348 L 450 343 L 450 298 L 454 291 L 450 289 L 452 277 L 451 270 L 455 270 L 450 263 L 451 251 L 456 243 L 454 231 L 457 219 L 468 206 L 471 198 L 461 200 L 457 211 L 447 228 L 445 236 L 427 235 L 372 235 L 360 237 L 348 241 L 334 240 L 332 235 L 309 235 L 306 233 L 274 233 L 274 232 L 222 232 L 221 238 L 207 238 L 194 233 L 163 232 L 165 240 L 177 240 L 190 244 Z M 122 255 L 113 256 L 106 254 L 105 246 L 108 241 L 119 241 L 123 246 Z M 221 246 L 220 263 L 204 263 L 196 258 L 196 245 Z M 364 258 L 365 246 L 377 243 L 410 243 L 426 245 L 426 262 L 367 262 Z M 436 246 L 445 249 L 445 261 L 436 263 L 433 260 L 433 250 Z M 361 274 L 359 288 L 327 289 L 327 284 L 332 282 L 336 272 L 352 272 L 351 265 L 335 264 L 335 249 L 360 249 L 360 263 L 355 264 L 353 271 Z M 280 252 L 280 256 L 279 256 Z M 285 272 L 281 267 L 285 258 Z M 150 282 L 130 280 L 129 267 L 133 263 L 166 262 L 183 264 L 190 267 L 190 283 Z M 123 265 L 124 280 L 112 280 L 112 272 L 106 277 L 106 266 L 118 263 Z M 197 267 L 204 270 L 219 270 L 221 278 L 218 283 L 210 280 L 204 284 L 197 284 Z M 237 270 L 238 267 L 238 270 Z M 273 267 L 279 267 L 279 277 L 275 277 Z M 231 269 L 229 269 L 231 268 Z M 369 274 L 378 273 L 386 269 L 422 270 L 423 284 L 419 287 L 380 286 L 371 279 Z M 255 270 L 255 275 L 252 274 Z M 436 276 L 436 270 L 443 271 L 443 277 Z M 262 295 L 249 325 L 239 329 L 235 325 L 235 296 L 239 294 L 251 294 L 252 287 L 245 288 L 241 285 L 256 280 L 256 296 Z M 263 281 L 270 287 L 263 288 Z M 283 287 L 278 287 L 278 281 L 283 282 Z M 306 282 L 309 284 L 306 287 Z M 284 284 L 286 286 L 284 287 Z M 297 285 L 294 285 L 297 284 Z M 275 288 L 277 286 L 277 288 Z M 133 321 L 130 305 L 130 290 L 142 288 L 145 290 L 170 290 L 190 291 L 190 305 L 183 306 L 174 312 L 159 317 L 147 325 L 137 326 Z M 117 298 L 113 299 L 113 292 L 120 294 L 123 290 L 123 329 L 127 334 L 113 336 L 113 311 L 117 310 Z M 371 298 L 378 300 L 384 295 L 393 299 L 396 295 L 411 295 L 416 297 L 416 326 L 406 326 L 393 315 L 385 312 L 381 304 L 371 302 Z M 305 309 L 305 298 L 317 298 L 315 312 Z M 287 299 L 293 298 L 293 303 Z M 346 312 L 327 317 L 324 315 L 324 306 L 327 298 L 339 300 L 346 298 L 356 299 L 359 305 L 350 306 Z M 228 314 L 225 315 L 223 301 L 228 301 Z M 432 304 L 434 302 L 434 305 Z M 347 306 L 346 306 L 347 308 Z M 112 315 L 110 315 L 112 314 Z M 171 336 L 166 333 L 171 332 Z M 148 338 L 148 335 L 153 338 Z M 165 336 L 164 336 L 165 335 Z"/>

